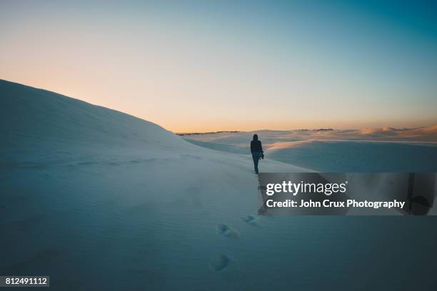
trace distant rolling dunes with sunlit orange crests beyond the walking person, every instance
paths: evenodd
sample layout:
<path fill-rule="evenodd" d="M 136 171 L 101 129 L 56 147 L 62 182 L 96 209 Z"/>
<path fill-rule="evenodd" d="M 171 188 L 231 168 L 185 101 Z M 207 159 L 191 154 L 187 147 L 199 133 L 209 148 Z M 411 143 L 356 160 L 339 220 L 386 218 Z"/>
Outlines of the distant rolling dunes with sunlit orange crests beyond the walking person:
<path fill-rule="evenodd" d="M 251 131 L 185 136 L 205 148 L 249 153 L 253 133 L 266 157 L 323 172 L 437 171 L 437 126 L 363 130 Z"/>

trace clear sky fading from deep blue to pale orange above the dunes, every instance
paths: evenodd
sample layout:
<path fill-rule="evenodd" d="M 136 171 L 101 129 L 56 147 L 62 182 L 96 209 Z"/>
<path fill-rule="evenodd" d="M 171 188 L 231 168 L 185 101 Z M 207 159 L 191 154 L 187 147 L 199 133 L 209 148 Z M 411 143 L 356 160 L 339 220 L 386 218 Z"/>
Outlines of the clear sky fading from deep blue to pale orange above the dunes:
<path fill-rule="evenodd" d="M 4 1 L 0 78 L 174 132 L 437 124 L 433 1 Z"/>

